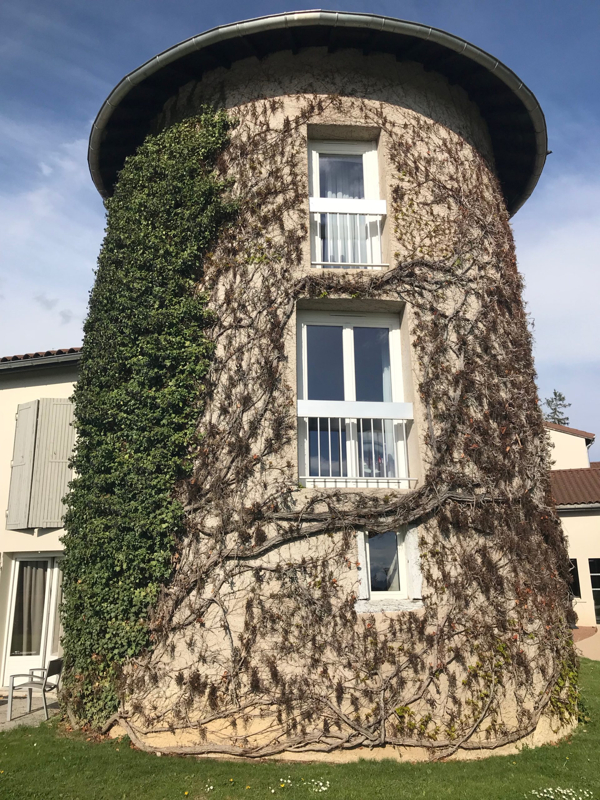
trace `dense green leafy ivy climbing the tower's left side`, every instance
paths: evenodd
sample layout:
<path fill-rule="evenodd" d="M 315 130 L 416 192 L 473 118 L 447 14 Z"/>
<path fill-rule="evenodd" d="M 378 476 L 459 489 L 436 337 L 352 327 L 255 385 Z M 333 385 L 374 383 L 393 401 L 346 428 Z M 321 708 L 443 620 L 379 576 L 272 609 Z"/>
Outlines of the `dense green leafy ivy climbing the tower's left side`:
<path fill-rule="evenodd" d="M 117 709 L 120 666 L 150 645 L 169 581 L 212 345 L 196 290 L 202 258 L 234 203 L 214 167 L 224 111 L 149 135 L 106 202 L 106 236 L 74 391 L 76 478 L 66 498 L 66 702 L 99 724 Z"/>

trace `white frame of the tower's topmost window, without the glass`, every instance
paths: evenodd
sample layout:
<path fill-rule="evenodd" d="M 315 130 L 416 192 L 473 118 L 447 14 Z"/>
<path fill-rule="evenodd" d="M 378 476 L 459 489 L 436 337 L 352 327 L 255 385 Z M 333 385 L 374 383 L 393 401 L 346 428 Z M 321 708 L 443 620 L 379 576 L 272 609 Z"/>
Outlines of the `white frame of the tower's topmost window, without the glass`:
<path fill-rule="evenodd" d="M 322 198 L 319 186 L 320 154 L 329 155 L 362 155 L 362 175 L 365 187 L 364 199 Z M 388 266 L 382 263 L 382 229 L 386 217 L 386 201 L 379 192 L 379 167 L 377 142 L 337 142 L 310 140 L 308 143 L 309 162 L 309 210 L 310 210 L 310 246 L 311 265 L 314 267 L 343 266 L 346 268 L 381 270 Z M 378 242 L 380 249 L 379 262 L 372 264 L 335 264 L 318 261 L 321 249 L 317 214 L 366 214 L 378 219 Z"/>

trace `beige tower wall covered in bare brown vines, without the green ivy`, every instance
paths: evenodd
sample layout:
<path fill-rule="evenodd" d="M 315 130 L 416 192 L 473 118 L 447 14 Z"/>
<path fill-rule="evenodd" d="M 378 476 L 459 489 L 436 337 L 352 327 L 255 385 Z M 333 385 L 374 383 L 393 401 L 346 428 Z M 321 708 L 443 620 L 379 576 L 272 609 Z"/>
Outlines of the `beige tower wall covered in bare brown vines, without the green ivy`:
<path fill-rule="evenodd" d="M 446 758 L 574 720 L 568 561 L 502 191 L 443 108 L 407 109 L 395 88 L 390 102 L 343 96 L 344 78 L 340 94 L 292 83 L 262 100 L 249 80 L 234 106 L 219 168 L 239 212 L 201 284 L 215 357 L 182 487 L 188 535 L 154 649 L 124 682 L 120 724 L 149 750 Z M 384 270 L 310 266 L 306 137 L 350 124 L 378 135 Z M 295 310 L 323 301 L 403 309 L 414 490 L 298 486 Z M 407 524 L 422 607 L 358 613 L 357 537 Z"/>

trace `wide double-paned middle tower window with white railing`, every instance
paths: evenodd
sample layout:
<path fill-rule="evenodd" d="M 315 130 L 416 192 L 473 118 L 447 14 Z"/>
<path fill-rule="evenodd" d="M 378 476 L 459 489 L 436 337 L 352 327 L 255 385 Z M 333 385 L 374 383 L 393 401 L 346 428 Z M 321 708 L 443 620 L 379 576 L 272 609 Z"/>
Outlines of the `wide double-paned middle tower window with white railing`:
<path fill-rule="evenodd" d="M 298 457 L 305 486 L 409 486 L 399 319 L 298 312 Z"/>

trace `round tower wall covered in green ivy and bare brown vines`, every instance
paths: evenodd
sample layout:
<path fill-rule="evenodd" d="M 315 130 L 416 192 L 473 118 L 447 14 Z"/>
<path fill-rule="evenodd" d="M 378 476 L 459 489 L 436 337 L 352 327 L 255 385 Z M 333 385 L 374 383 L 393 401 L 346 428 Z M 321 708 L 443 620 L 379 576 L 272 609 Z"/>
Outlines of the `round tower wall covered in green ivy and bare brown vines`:
<path fill-rule="evenodd" d="M 150 750 L 440 758 L 574 719 L 568 561 L 486 130 L 439 76 L 398 82 L 378 57 L 361 78 L 350 55 L 187 86 L 109 204 L 76 395 L 68 690 L 93 722 L 118 705 Z M 223 114 L 194 118 L 210 86 L 229 139 Z M 385 270 L 310 266 L 306 138 L 350 124 L 385 165 Z M 414 490 L 298 486 L 294 315 L 325 299 L 409 323 Z M 358 613 L 357 536 L 408 524 L 422 606 Z"/>

